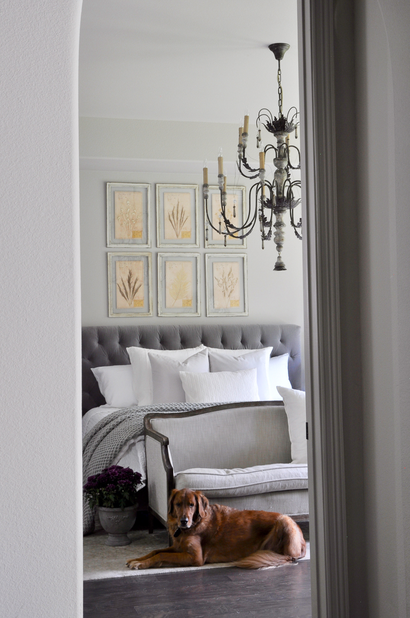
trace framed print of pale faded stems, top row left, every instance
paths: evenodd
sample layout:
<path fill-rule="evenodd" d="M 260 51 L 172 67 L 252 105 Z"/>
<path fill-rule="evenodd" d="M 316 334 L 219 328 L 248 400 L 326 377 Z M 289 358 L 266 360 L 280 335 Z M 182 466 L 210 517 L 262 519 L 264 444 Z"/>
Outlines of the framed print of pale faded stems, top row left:
<path fill-rule="evenodd" d="M 151 247 L 151 185 L 107 182 L 107 247 Z"/>

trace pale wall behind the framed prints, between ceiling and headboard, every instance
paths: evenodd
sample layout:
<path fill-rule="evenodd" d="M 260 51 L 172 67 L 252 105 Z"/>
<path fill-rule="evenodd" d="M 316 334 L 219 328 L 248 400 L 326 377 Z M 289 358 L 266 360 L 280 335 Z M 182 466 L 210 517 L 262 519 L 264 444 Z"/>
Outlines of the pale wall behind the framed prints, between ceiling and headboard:
<path fill-rule="evenodd" d="M 297 101 L 296 101 L 297 103 Z M 238 128 L 230 124 L 204 122 L 135 121 L 126 119 L 80 119 L 80 213 L 82 263 L 82 323 L 84 326 L 114 324 L 243 323 L 303 325 L 302 243 L 287 224 L 283 260 L 287 271 L 274 272 L 277 257 L 273 240 L 261 249 L 259 226 L 248 237 L 249 317 L 207 318 L 205 253 L 224 252 L 204 248 L 204 210 L 202 187 L 203 159 L 209 160 L 209 182 L 217 184 L 217 150 L 224 150 L 228 184 L 245 184 L 233 163 Z M 269 135 L 266 133 L 266 135 Z M 253 137 L 253 133 L 251 133 Z M 255 140 L 249 151 L 257 155 Z M 267 140 L 264 138 L 264 143 Z M 298 142 L 296 142 L 298 143 Z M 228 162 L 231 163 L 228 163 Z M 106 247 L 106 183 L 148 182 L 152 187 L 151 251 L 153 253 L 152 318 L 108 318 Z M 165 318 L 157 315 L 156 183 L 199 184 L 201 305 L 198 318 Z M 254 181 L 253 181 L 254 182 Z M 300 211 L 300 209 L 299 209 Z M 299 214 L 300 216 L 300 214 Z M 119 249 L 120 250 L 120 249 Z M 115 251 L 111 248 L 110 251 Z M 146 250 L 144 250 L 146 251 Z M 165 252 L 177 249 L 165 250 Z M 225 251 L 227 253 L 228 250 Z M 127 252 L 125 249 L 124 252 Z M 231 250 L 231 252 L 234 252 Z"/>

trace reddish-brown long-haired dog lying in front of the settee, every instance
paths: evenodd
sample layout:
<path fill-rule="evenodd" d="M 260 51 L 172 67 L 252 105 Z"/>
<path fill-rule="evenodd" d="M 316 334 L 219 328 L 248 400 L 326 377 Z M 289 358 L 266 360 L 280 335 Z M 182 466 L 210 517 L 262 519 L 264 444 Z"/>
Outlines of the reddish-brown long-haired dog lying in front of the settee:
<path fill-rule="evenodd" d="M 234 562 L 243 569 L 277 567 L 306 554 L 297 523 L 287 515 L 209 504 L 200 491 L 174 489 L 167 527 L 172 546 L 127 561 L 130 569 L 197 567 Z"/>

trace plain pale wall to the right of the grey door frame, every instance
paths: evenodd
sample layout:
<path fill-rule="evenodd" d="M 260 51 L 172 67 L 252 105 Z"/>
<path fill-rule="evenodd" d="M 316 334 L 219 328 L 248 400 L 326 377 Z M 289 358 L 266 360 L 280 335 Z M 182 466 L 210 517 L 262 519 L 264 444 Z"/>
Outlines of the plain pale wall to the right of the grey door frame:
<path fill-rule="evenodd" d="M 410 614 L 410 5 L 356 5 L 369 615 Z"/>

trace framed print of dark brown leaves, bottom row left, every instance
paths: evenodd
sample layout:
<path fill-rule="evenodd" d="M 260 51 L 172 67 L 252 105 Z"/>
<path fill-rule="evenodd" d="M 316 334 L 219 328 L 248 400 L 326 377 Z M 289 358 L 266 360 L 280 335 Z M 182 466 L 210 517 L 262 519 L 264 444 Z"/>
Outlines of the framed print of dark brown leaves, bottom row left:
<path fill-rule="evenodd" d="M 108 316 L 153 315 L 151 253 L 108 253 Z"/>

